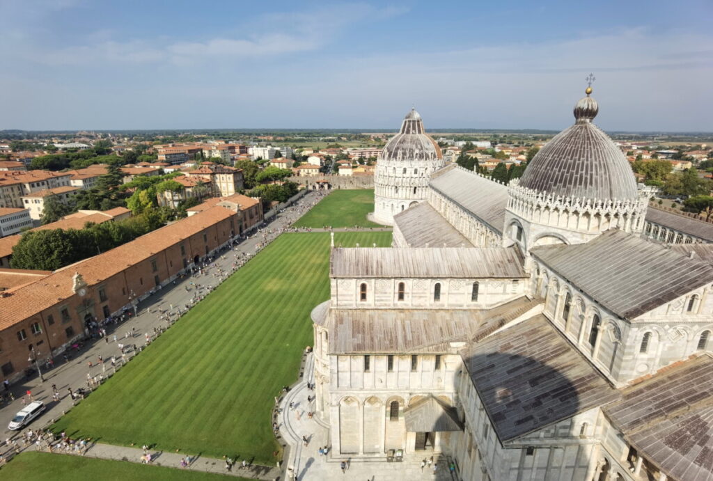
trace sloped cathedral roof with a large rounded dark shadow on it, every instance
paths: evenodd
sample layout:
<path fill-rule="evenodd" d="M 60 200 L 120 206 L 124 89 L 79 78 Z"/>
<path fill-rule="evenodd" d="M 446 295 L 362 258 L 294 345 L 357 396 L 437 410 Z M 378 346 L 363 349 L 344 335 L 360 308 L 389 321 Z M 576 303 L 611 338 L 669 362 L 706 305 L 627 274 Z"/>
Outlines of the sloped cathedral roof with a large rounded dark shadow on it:
<path fill-rule="evenodd" d="M 541 314 L 472 343 L 461 357 L 503 442 L 619 397 Z"/>

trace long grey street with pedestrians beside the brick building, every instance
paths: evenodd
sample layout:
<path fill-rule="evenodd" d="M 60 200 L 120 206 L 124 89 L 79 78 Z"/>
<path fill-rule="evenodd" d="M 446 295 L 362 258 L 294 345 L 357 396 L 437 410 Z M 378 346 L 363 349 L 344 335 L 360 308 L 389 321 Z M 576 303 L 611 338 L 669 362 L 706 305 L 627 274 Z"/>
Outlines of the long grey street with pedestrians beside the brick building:
<path fill-rule="evenodd" d="M 51 424 L 54 419 L 60 418 L 63 411 L 68 410 L 72 406 L 72 400 L 68 392 L 68 388 L 76 391 L 77 388 L 87 388 L 87 375 L 91 377 L 100 375 L 107 376 L 112 371 L 110 360 L 115 356 L 120 363 L 121 355 L 118 344 L 125 345 L 135 344 L 137 348 L 142 348 L 146 344 L 145 334 L 153 336 L 154 328 L 166 328 L 168 322 L 159 318 L 160 311 L 170 311 L 173 306 L 173 313 L 178 308 L 185 309 L 194 295 L 203 296 L 207 294 L 208 287 L 215 287 L 220 284 L 220 279 L 217 276 L 217 269 L 220 267 L 223 271 L 230 271 L 232 264 L 237 259 L 245 256 L 252 256 L 257 252 L 257 246 L 264 247 L 265 244 L 274 240 L 282 230 L 289 227 L 292 222 L 302 217 L 304 212 L 307 212 L 314 203 L 322 197 L 317 192 L 309 192 L 302 197 L 292 207 L 288 207 L 279 214 L 275 220 L 262 227 L 251 237 L 243 240 L 235 246 L 234 250 L 226 250 L 217 254 L 215 261 L 210 264 L 210 267 L 203 270 L 202 275 L 186 276 L 184 279 L 177 279 L 176 284 L 168 284 L 162 290 L 156 292 L 147 299 L 141 301 L 137 306 L 138 316 L 131 316 L 128 321 L 118 325 L 107 326 L 108 342 L 105 338 L 88 341 L 84 343 L 76 353 L 73 353 L 68 362 L 63 361 L 63 356 L 60 354 L 55 358 L 55 366 L 49 371 L 45 371 L 42 367 L 44 382 L 40 381 L 39 376 L 34 378 L 24 379 L 19 383 L 11 386 L 10 391 L 14 393 L 16 400 L 12 403 L 4 403 L 0 408 L 0 443 L 7 438 L 12 438 L 21 431 L 11 431 L 7 428 L 8 423 L 15 414 L 23 408 L 22 399 L 27 401 L 26 391 L 31 391 L 34 400 L 41 400 L 47 405 L 46 412 L 39 418 L 34 420 L 29 428 L 44 428 Z M 225 259 L 223 259 L 225 257 Z M 200 284 L 202 289 L 197 291 L 197 286 L 191 286 L 190 283 Z M 186 289 L 188 287 L 188 290 Z M 174 319 L 176 314 L 174 314 Z M 133 331 L 133 337 L 126 337 L 127 333 Z M 114 341 L 116 336 L 116 341 Z M 40 357 L 42 353 L 39 353 Z M 129 360 L 133 353 L 128 353 L 126 359 Z M 104 359 L 103 366 L 98 363 L 99 356 Z M 89 367 L 91 361 L 92 367 Z M 106 372 L 103 371 L 106 370 Z M 56 385 L 61 398 L 59 401 L 52 399 L 52 385 Z M 0 391 L 2 388 L 0 387 Z M 0 448 L 0 452 L 6 450 L 5 446 Z"/>

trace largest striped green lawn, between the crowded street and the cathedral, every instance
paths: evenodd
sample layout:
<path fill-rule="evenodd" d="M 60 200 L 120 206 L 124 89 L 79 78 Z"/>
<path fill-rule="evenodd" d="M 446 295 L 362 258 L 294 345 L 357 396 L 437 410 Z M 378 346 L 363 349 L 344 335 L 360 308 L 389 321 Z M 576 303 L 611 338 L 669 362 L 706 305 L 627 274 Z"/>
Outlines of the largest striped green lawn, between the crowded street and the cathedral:
<path fill-rule="evenodd" d="M 391 232 L 335 241 L 388 246 Z M 328 266 L 329 234 L 283 234 L 53 429 L 272 465 L 270 410 L 312 345 L 309 312 L 329 299 Z"/>

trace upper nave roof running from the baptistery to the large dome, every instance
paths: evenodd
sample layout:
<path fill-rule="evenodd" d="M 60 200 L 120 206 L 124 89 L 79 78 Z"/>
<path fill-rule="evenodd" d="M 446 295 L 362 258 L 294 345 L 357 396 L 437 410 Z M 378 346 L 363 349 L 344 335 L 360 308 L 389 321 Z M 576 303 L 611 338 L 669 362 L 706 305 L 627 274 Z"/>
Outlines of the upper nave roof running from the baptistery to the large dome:
<path fill-rule="evenodd" d="M 464 210 L 503 233 L 508 187 L 457 165 L 449 165 L 431 176 L 429 186 L 456 202 Z"/>

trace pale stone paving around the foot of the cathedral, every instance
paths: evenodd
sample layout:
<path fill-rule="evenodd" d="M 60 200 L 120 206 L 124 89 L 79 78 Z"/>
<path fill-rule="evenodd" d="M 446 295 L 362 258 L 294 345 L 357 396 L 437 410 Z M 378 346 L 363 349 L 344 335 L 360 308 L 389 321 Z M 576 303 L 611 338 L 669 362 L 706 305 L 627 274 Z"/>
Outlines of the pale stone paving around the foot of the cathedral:
<path fill-rule="evenodd" d="M 312 353 L 304 358 L 304 377 L 292 386 L 292 389 L 280 400 L 277 423 L 279 433 L 284 441 L 289 445 L 289 453 L 285 458 L 284 467 L 287 468 L 286 479 L 290 479 L 290 474 L 294 473 L 294 479 L 302 480 L 369 480 L 369 481 L 392 481 L 392 480 L 437 480 L 453 481 L 448 472 L 448 462 L 445 457 L 434 458 L 436 470 L 432 466 L 421 469 L 421 460 L 431 457 L 431 453 L 426 455 L 409 455 L 404 462 L 386 462 L 383 460 L 353 460 L 349 462 L 348 469 L 342 473 L 342 459 L 334 459 L 332 452 L 326 456 L 319 454 L 319 448 L 329 446 L 329 429 L 315 416 L 309 419 L 307 413 L 314 409 L 312 403 L 307 401 L 307 396 L 312 398 L 314 391 L 307 389 L 307 383 L 314 382 L 314 360 Z M 292 403 L 293 408 L 289 408 Z M 302 441 L 302 436 L 307 438 L 307 446 Z"/>

